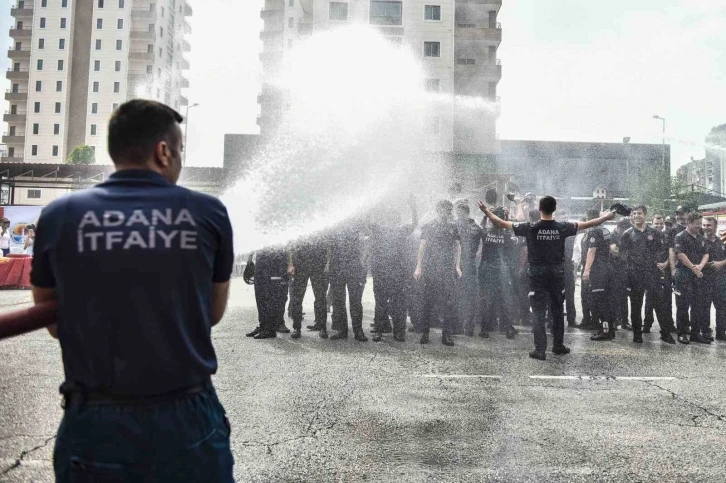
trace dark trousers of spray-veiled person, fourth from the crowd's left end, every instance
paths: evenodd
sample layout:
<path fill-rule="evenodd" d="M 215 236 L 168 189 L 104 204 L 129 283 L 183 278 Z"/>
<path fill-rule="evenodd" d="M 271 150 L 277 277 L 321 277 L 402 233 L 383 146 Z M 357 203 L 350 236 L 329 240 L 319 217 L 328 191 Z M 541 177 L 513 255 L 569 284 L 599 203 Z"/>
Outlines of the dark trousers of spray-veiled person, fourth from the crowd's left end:
<path fill-rule="evenodd" d="M 376 301 L 373 322 L 375 331 L 382 332 L 393 322 L 393 332 L 398 336 L 406 333 L 406 273 L 401 270 L 376 267 L 373 272 L 373 297 Z M 390 319 L 389 319 L 390 317 Z"/>

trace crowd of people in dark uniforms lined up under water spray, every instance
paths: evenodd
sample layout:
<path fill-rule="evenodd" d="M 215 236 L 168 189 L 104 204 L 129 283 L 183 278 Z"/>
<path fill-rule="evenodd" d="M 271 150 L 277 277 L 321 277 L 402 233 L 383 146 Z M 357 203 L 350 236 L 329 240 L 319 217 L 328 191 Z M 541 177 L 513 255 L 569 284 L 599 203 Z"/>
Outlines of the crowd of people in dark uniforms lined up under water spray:
<path fill-rule="evenodd" d="M 642 343 L 655 320 L 665 343 L 675 343 L 673 334 L 683 344 L 726 340 L 726 251 L 712 217 L 702 218 L 682 207 L 675 217 L 649 215 L 647 207 L 639 205 L 613 229 L 601 225 L 609 215 L 601 216 L 598 210 L 588 211 L 580 222 L 561 223 L 564 228 L 548 228 L 548 223 L 557 222 L 542 220 L 541 206 L 533 209 L 531 199 L 517 203 L 512 216 L 516 222 L 508 221 L 510 213 L 503 207 L 490 210 L 482 203 L 486 216 L 480 223 L 472 218 L 467 200 L 442 200 L 436 205 L 436 219 L 424 224 L 417 237 L 413 200 L 410 206 L 409 223 L 402 223 L 395 211 L 378 209 L 325 234 L 257 252 L 247 280 L 255 285 L 259 326 L 247 336 L 266 339 L 289 333 L 284 319 L 289 294 L 291 337 L 300 338 L 310 281 L 314 321 L 307 329 L 324 339 L 345 339 L 349 308 L 353 336 L 367 341 L 362 296 L 370 273 L 374 341 L 387 333 L 404 341 L 406 332 L 415 332 L 426 344 L 432 326 L 441 327 L 447 346 L 454 345 L 453 335 L 474 336 L 477 326 L 479 337 L 500 331 L 512 339 L 518 333 L 515 326 L 532 325 L 536 330 L 538 309 L 556 345 L 562 343 L 558 332 L 564 331 L 559 327 L 564 322 L 555 319 L 565 316 L 568 326 L 593 331 L 594 341 L 612 340 L 618 330 L 629 330 L 633 342 Z M 533 227 L 543 228 L 534 239 L 526 231 Z M 578 230 L 582 233 L 574 237 Z M 533 286 L 544 267 L 557 271 L 553 280 L 555 286 L 562 285 L 561 297 L 547 298 L 546 290 L 540 295 Z M 579 324 L 578 276 L 583 311 Z M 715 337 L 711 305 L 716 307 Z M 334 333 L 329 336 L 331 306 Z M 543 350 L 536 352 L 539 356 Z"/>

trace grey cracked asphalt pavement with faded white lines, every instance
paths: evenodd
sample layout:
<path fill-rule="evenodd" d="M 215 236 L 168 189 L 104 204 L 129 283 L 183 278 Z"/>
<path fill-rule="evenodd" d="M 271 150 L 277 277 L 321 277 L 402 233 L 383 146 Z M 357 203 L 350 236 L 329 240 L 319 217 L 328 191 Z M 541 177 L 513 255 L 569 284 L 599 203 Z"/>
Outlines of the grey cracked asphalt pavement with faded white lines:
<path fill-rule="evenodd" d="M 29 300 L 0 292 L 0 312 Z M 368 332 L 370 284 L 364 309 Z M 214 382 L 238 481 L 726 481 L 726 343 L 666 345 L 657 330 L 642 345 L 622 331 L 591 342 L 568 329 L 572 353 L 542 362 L 527 357 L 527 328 L 452 348 L 438 332 L 428 346 L 415 334 L 254 341 L 256 317 L 235 281 Z M 61 382 L 46 333 L 0 342 L 0 481 L 53 480 Z"/>

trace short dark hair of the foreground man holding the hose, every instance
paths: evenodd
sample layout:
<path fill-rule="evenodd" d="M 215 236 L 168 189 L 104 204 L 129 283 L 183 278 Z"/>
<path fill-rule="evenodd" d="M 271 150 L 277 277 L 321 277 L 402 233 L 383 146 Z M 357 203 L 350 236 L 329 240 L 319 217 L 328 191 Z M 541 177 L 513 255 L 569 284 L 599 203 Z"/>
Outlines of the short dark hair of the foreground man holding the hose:
<path fill-rule="evenodd" d="M 156 101 L 134 99 L 113 113 L 108 123 L 108 154 L 115 164 L 142 163 L 161 141 L 172 143 L 174 126 L 184 118 Z"/>

